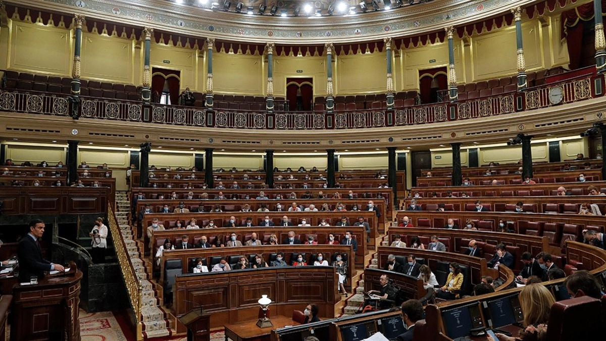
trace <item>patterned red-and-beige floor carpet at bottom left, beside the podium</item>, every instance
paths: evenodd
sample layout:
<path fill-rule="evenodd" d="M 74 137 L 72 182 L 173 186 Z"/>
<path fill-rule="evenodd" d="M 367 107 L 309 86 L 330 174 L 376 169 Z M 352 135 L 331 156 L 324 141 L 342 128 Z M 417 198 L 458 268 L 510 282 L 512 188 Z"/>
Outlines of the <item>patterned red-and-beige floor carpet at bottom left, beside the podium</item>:
<path fill-rule="evenodd" d="M 118 319 L 111 311 L 95 312 L 89 314 L 80 310 L 80 336 L 82 341 L 135 341 L 133 331 L 122 328 L 132 328 L 126 323 L 118 323 Z M 185 341 L 186 337 L 163 337 L 150 339 L 157 341 Z M 223 331 L 216 331 L 211 334 L 210 341 L 224 341 Z"/>

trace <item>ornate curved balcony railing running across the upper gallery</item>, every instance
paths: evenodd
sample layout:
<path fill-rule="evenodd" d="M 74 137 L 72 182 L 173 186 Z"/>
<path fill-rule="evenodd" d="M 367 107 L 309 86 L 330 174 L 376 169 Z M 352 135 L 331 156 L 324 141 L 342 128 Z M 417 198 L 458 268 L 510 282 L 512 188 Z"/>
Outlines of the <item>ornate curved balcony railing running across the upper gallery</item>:
<path fill-rule="evenodd" d="M 550 90 L 562 89 L 561 103 L 552 104 Z M 396 109 L 344 112 L 264 112 L 201 107 L 144 105 L 139 101 L 82 96 L 79 116 L 97 120 L 129 121 L 178 126 L 230 129 L 325 130 L 367 129 L 468 120 L 524 110 L 541 109 L 604 96 L 604 75 L 583 75 L 556 83 L 454 103 L 422 104 Z M 0 90 L 0 110 L 71 116 L 70 96 Z"/>

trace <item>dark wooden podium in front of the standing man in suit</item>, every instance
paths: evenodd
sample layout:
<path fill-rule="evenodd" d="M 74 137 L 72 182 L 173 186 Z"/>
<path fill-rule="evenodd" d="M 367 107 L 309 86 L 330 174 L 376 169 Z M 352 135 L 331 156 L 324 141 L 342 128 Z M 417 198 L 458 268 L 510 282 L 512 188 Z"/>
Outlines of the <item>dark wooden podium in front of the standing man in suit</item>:
<path fill-rule="evenodd" d="M 47 275 L 37 285 L 13 286 L 10 340 L 80 340 L 82 271 L 70 262 L 65 274 Z"/>

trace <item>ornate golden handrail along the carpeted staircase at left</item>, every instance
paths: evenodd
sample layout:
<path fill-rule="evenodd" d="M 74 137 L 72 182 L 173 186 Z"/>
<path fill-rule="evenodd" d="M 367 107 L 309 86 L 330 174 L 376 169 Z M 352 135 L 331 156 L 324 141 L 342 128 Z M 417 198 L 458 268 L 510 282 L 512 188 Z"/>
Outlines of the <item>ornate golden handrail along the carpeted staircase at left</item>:
<path fill-rule="evenodd" d="M 143 326 L 142 321 L 143 317 L 141 314 L 141 303 L 142 303 L 142 286 L 139 282 L 139 278 L 135 272 L 135 266 L 130 260 L 128 256 L 128 251 L 126 248 L 126 244 L 124 243 L 124 238 L 122 238 L 122 232 L 118 226 L 118 222 L 116 220 L 116 215 L 113 212 L 112 206 L 107 204 L 107 221 L 110 226 L 110 231 L 114 237 L 114 249 L 116 250 L 116 257 L 118 258 L 118 263 L 120 263 L 120 269 L 122 271 L 122 278 L 124 279 L 124 284 L 126 285 L 126 290 L 128 291 L 128 297 L 130 298 L 130 305 L 133 308 L 133 314 L 135 314 L 135 323 L 136 323 L 136 338 L 137 340 L 143 339 Z M 116 241 L 116 237 L 120 240 Z"/>

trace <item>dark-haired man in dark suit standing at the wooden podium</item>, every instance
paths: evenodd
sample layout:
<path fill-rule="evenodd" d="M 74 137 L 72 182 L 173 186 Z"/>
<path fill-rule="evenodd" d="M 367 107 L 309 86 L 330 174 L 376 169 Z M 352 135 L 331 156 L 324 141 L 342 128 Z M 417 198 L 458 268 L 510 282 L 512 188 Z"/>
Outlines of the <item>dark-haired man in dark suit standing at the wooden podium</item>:
<path fill-rule="evenodd" d="M 45 271 L 65 271 L 60 264 L 53 264 L 42 258 L 39 238 L 44 234 L 44 221 L 30 221 L 27 235 L 19 240 L 17 257 L 19 259 L 19 283 L 30 282 L 32 277 L 42 278 Z"/>

